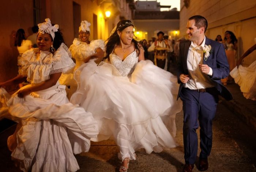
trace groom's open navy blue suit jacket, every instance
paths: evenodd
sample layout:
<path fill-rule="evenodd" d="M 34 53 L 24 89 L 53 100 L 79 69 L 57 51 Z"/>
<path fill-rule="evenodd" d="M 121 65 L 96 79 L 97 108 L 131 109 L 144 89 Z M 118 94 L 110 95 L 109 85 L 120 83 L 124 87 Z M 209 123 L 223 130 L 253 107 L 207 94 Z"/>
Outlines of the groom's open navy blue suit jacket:
<path fill-rule="evenodd" d="M 211 45 L 211 53 L 208 59 L 205 61 L 203 59 L 203 64 L 207 64 L 212 68 L 212 76 L 207 75 L 212 81 L 214 81 L 214 86 L 217 88 L 219 95 L 221 95 L 226 100 L 233 99 L 231 93 L 227 90 L 227 88 L 222 85 L 221 79 L 229 76 L 229 64 L 227 62 L 227 56 L 225 53 L 224 46 L 222 43 L 213 41 L 206 37 L 205 41 L 206 45 Z M 178 98 L 180 97 L 181 89 L 183 88 L 183 83 L 180 81 L 180 75 L 188 74 L 188 66 L 187 66 L 187 58 L 188 58 L 188 50 L 191 45 L 191 41 L 183 41 L 180 42 L 180 54 L 178 57 L 177 64 L 177 78 L 178 83 L 180 84 Z"/>

